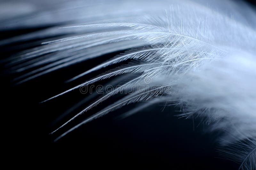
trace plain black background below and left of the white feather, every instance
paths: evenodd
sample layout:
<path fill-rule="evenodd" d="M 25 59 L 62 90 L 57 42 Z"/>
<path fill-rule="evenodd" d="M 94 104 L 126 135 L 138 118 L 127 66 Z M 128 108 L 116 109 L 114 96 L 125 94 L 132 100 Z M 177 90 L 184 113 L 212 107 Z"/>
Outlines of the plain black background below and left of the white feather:
<path fill-rule="evenodd" d="M 255 1 L 250 1 L 255 5 Z M 33 32 L 44 28 L 9 30 L 0 32 L 1 39 Z M 39 40 L 40 41 L 40 40 Z M 27 42 L 0 46 L 5 58 L 39 43 Z M 167 169 L 237 169 L 238 164 L 218 158 L 216 147 L 220 132 L 209 132 L 200 118 L 178 119 L 174 115 L 180 108 L 151 106 L 126 119 L 118 115 L 136 106 L 129 105 L 111 112 L 74 130 L 56 143 L 53 140 L 61 133 L 49 135 L 56 127 L 84 108 L 87 101 L 62 120 L 56 119 L 68 108 L 86 96 L 79 90 L 39 104 L 59 92 L 77 85 L 83 77 L 72 83 L 65 80 L 84 71 L 84 66 L 93 67 L 99 62 L 115 56 L 108 54 L 96 60 L 85 61 L 68 68 L 54 71 L 21 85 L 13 86 L 1 64 L 2 98 L 2 155 L 21 165 L 56 166 L 66 165 L 82 168 L 96 167 L 165 167 Z M 90 77 L 98 72 L 90 74 Z M 104 83 L 104 82 L 103 82 Z M 106 101 L 88 115 L 111 103 Z M 67 128 L 72 127 L 88 115 L 81 116 Z M 55 124 L 53 123 L 55 121 Z M 61 132 L 64 132 L 63 129 Z M 13 164 L 14 165 L 14 164 Z M 13 166 L 10 164 L 9 166 Z M 161 168 L 162 169 L 162 168 Z"/>

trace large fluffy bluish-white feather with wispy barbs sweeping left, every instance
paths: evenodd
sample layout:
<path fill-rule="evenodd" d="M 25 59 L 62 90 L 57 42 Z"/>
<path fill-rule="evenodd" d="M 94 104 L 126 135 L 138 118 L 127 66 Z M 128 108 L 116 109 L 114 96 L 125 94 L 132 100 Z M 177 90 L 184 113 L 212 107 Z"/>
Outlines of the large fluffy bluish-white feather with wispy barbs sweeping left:
<path fill-rule="evenodd" d="M 27 6 L 31 7 L 31 11 L 23 17 L 19 15 L 24 11 L 4 11 L 6 18 L 14 18 L 11 21 L 0 18 L 7 27 L 53 25 L 36 33 L 1 41 L 6 45 L 36 38 L 44 40 L 39 47 L 31 47 L 1 61 L 7 74 L 19 73 L 13 79 L 14 83 L 24 83 L 63 67 L 120 50 L 126 51 L 92 68 L 85 68 L 67 82 L 116 64 L 121 66 L 43 102 L 112 77 L 137 76 L 112 87 L 110 92 L 100 96 L 52 134 L 124 89 L 132 89 L 131 94 L 124 95 L 62 132 L 55 141 L 124 105 L 147 101 L 125 114 L 132 115 L 148 107 L 151 104 L 148 100 L 152 99 L 152 103 L 180 105 L 183 113 L 179 116 L 201 116 L 210 124 L 211 130 L 225 131 L 219 139 L 223 146 L 221 155 L 240 163 L 240 169 L 255 168 L 256 14 L 253 9 L 242 2 L 228 0 L 225 1 L 225 8 L 218 0 L 209 4 L 200 0 L 163 0 L 161 3 L 144 0 L 96 0 L 88 1 L 88 4 L 78 0 L 61 2 L 58 0 L 52 4 L 46 0 L 46 6 L 40 8 L 31 1 L 31 6 Z M 50 6 L 55 10 L 47 11 Z M 37 12 L 32 17 L 34 11 Z M 4 30 L 4 27 L 0 26 L 0 29 Z M 128 64 L 122 64 L 124 62 Z M 140 85 L 144 85 L 142 89 Z"/>

